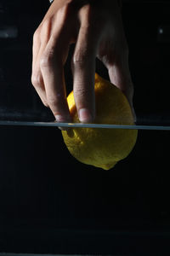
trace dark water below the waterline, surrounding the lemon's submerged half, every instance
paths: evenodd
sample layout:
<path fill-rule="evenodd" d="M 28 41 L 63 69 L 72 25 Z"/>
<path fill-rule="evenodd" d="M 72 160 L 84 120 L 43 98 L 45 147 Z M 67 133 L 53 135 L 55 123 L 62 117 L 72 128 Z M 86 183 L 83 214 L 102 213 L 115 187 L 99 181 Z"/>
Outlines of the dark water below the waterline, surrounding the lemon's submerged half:
<path fill-rule="evenodd" d="M 139 131 L 132 153 L 110 171 L 75 160 L 57 128 L 1 127 L 0 137 L 5 251 L 123 253 L 135 241 L 146 253 L 167 246 L 169 131 Z"/>

